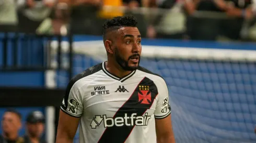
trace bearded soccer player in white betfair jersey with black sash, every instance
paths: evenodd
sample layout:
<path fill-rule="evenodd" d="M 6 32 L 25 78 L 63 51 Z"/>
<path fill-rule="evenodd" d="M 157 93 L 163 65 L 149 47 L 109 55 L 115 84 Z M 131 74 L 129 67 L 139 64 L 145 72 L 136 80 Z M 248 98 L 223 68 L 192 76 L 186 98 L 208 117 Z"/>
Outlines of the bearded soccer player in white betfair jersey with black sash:
<path fill-rule="evenodd" d="M 73 77 L 61 105 L 57 143 L 174 143 L 166 82 L 139 66 L 141 34 L 133 16 L 103 24 L 108 60 Z"/>

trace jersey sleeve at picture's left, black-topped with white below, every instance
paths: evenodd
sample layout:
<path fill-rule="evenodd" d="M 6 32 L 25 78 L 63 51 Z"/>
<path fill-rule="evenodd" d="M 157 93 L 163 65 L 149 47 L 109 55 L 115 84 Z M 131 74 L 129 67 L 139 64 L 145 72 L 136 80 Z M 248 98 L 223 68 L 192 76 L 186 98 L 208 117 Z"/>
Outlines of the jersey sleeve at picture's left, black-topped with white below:
<path fill-rule="evenodd" d="M 71 80 L 67 85 L 65 96 L 61 104 L 61 110 L 77 118 L 83 114 L 83 98 L 78 83 L 74 80 Z"/>

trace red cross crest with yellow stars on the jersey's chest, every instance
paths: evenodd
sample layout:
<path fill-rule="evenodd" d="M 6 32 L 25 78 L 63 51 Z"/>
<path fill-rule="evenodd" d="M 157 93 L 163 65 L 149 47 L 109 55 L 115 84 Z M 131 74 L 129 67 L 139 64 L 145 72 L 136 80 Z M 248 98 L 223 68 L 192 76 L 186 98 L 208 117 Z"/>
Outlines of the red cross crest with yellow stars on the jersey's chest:
<path fill-rule="evenodd" d="M 138 92 L 138 101 L 141 104 L 150 104 L 151 103 L 151 92 L 149 86 L 139 85 Z"/>

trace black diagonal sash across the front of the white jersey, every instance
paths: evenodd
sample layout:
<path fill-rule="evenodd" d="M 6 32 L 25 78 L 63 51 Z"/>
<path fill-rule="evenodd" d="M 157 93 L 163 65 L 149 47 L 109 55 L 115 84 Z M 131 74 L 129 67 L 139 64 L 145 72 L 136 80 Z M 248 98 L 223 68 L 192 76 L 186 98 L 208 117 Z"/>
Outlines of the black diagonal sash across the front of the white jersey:
<path fill-rule="evenodd" d="M 141 92 L 142 90 L 144 90 L 144 92 Z M 147 92 L 145 92 L 146 90 Z M 147 109 L 150 109 L 157 94 L 158 90 L 155 83 L 147 77 L 144 77 L 135 88 L 131 97 L 115 113 L 113 119 L 118 117 L 123 118 L 125 114 L 126 116 L 131 116 L 133 113 L 136 113 L 136 116 L 142 116 Z M 138 95 L 140 95 L 140 97 Z M 143 98 L 144 96 L 147 98 Z M 143 102 L 143 100 L 147 101 Z M 123 126 L 107 127 L 98 142 L 123 143 L 129 137 L 135 126 L 134 124 L 131 125 L 131 121 L 129 121 L 129 124 L 130 126 L 124 124 Z"/>

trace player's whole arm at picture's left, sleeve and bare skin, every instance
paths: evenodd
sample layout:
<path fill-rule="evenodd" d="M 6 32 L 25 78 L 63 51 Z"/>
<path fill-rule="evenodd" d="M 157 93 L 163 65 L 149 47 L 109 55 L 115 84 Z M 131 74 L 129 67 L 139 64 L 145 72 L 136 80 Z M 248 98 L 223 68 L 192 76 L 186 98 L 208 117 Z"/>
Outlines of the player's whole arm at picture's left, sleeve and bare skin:
<path fill-rule="evenodd" d="M 61 105 L 56 143 L 72 143 L 76 135 L 80 116 L 83 114 L 83 98 L 77 80 L 68 83 Z"/>

